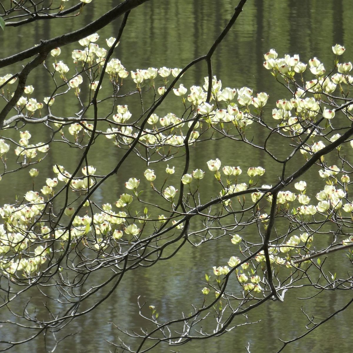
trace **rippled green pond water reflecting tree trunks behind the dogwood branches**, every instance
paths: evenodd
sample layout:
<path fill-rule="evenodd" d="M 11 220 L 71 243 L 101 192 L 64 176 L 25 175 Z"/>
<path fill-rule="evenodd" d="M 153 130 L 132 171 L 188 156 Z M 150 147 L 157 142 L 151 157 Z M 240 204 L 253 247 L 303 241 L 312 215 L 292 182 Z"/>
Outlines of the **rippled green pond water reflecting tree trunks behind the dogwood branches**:
<path fill-rule="evenodd" d="M 2 56 L 7 57 L 16 53 L 19 48 L 25 49 L 53 36 L 66 33 L 68 29 L 78 29 L 84 24 L 97 18 L 107 11 L 117 1 L 93 1 L 90 6 L 78 17 L 65 20 L 50 20 L 35 22 L 26 27 L 6 28 L 2 37 Z M 128 71 L 136 68 L 146 69 L 153 67 L 184 67 L 191 60 L 205 54 L 213 41 L 232 16 L 237 1 L 222 0 L 169 0 L 149 1 L 133 10 L 128 18 L 127 26 L 120 41 L 120 45 L 114 56 L 118 57 Z M 331 46 L 340 43 L 346 46 L 345 58 L 351 58 L 353 47 L 351 36 L 353 33 L 353 7 L 349 0 L 331 1 L 294 1 L 294 0 L 256 0 L 248 1 L 244 6 L 236 24 L 226 39 L 221 43 L 213 57 L 214 75 L 222 81 L 223 87 L 240 88 L 247 86 L 255 92 L 267 92 L 270 95 L 269 105 L 280 98 L 285 98 L 286 91 L 276 84 L 269 71 L 263 68 L 263 53 L 275 48 L 279 55 L 299 54 L 301 60 L 308 62 L 312 57 L 318 57 L 325 67 L 330 67 L 334 55 Z M 116 20 L 99 32 L 101 38 L 116 36 L 120 21 Z M 103 43 L 102 43 L 103 46 Z M 70 61 L 71 51 L 78 48 L 78 43 L 68 45 L 62 49 L 62 60 Z M 67 52 L 67 54 L 65 54 Z M 66 58 L 65 58 L 65 55 Z M 49 59 L 48 59 L 49 62 Z M 50 61 L 51 62 L 51 61 Z M 51 65 L 51 64 L 49 64 Z M 15 72 L 19 66 L 13 67 Z M 1 75 L 6 74 L 4 69 Z M 195 66 L 182 78 L 186 87 L 192 84 L 202 85 L 203 77 L 207 76 L 205 63 Z M 32 81 L 31 81 L 32 80 Z M 38 96 L 46 96 L 50 89 L 50 80 L 44 71 L 36 77 L 30 77 L 29 84 L 36 87 Z M 38 84 L 39 83 L 39 84 Z M 102 94 L 104 95 L 104 86 Z M 108 92 L 108 88 L 106 88 Z M 77 108 L 77 101 L 72 94 L 66 96 L 65 101 L 57 108 L 56 114 L 70 116 L 72 108 Z M 139 111 L 139 105 L 135 98 L 121 99 L 118 104 L 128 104 L 132 113 Z M 163 105 L 158 115 L 163 116 L 168 112 L 182 111 L 183 106 L 174 101 Z M 104 110 L 104 108 L 103 108 Z M 268 113 L 271 112 L 268 109 Z M 178 114 L 177 114 L 178 115 Z M 33 138 L 38 141 L 45 140 L 45 129 L 35 126 L 26 127 Z M 13 133 L 14 136 L 18 134 Z M 261 140 L 261 131 L 253 131 L 255 139 Z M 16 138 L 16 137 L 14 137 Z M 291 151 L 283 146 L 280 141 L 271 141 L 271 146 L 280 153 L 286 155 Z M 82 151 L 68 148 L 62 144 L 62 148 L 53 149 L 42 162 L 41 175 L 52 174 L 54 163 L 63 164 L 67 170 L 73 170 Z M 121 151 L 108 139 L 100 139 L 95 143 L 89 155 L 89 164 L 97 167 L 100 174 L 110 171 L 114 163 L 121 156 Z M 239 165 L 244 169 L 252 165 L 261 165 L 267 172 L 263 177 L 263 183 L 272 184 L 277 180 L 279 166 L 267 155 L 259 152 L 253 153 L 243 145 L 229 141 L 213 141 L 213 143 L 199 144 L 192 149 L 190 170 L 195 168 L 206 169 L 206 161 L 211 158 L 221 158 L 227 165 Z M 294 170 L 303 158 L 298 156 L 288 168 Z M 11 162 L 10 162 L 11 163 Z M 174 165 L 177 173 L 178 158 L 169 161 Z M 183 161 L 181 161 L 183 163 Z M 156 174 L 162 173 L 167 163 L 153 165 Z M 114 178 L 114 182 L 103 185 L 95 194 L 95 201 L 99 204 L 115 202 L 124 192 L 124 182 L 128 178 L 136 176 L 140 178 L 146 164 L 140 159 L 131 158 L 124 164 L 124 168 Z M 5 176 L 1 181 L 1 203 L 11 203 L 15 195 L 23 193 L 27 181 L 27 171 Z M 41 176 L 40 176 L 41 177 Z M 40 185 L 38 177 L 38 185 Z M 175 176 L 177 178 L 177 176 Z M 42 180 L 43 181 L 43 180 Z M 37 181 L 36 181 L 37 182 Z M 315 182 L 312 182 L 315 184 Z M 310 182 L 309 182 L 310 185 Z M 205 193 L 215 195 L 219 192 L 216 183 L 207 185 Z M 152 192 L 147 192 L 148 197 L 153 198 Z M 324 241 L 324 240 L 323 240 Z M 227 243 L 228 244 L 228 243 Z M 145 321 L 138 314 L 137 297 L 147 305 L 154 305 L 160 315 L 166 320 L 180 317 L 182 312 L 192 310 L 190 304 L 202 303 L 200 290 L 204 287 L 204 274 L 211 273 L 212 266 L 225 264 L 232 256 L 232 249 L 225 242 L 209 242 L 200 248 L 185 246 L 168 261 L 152 266 L 151 268 L 131 271 L 123 282 L 115 290 L 113 295 L 104 301 L 90 314 L 77 318 L 70 323 L 64 331 L 66 334 L 78 334 L 67 337 L 60 343 L 58 352 L 108 352 L 114 348 L 107 341 L 118 342 L 118 330 L 113 324 L 139 330 L 145 326 Z M 344 254 L 342 254 L 344 256 Z M 340 264 L 341 255 L 335 255 L 331 260 L 332 266 Z M 338 265 L 337 265 L 338 266 Z M 347 270 L 347 269 L 343 269 Z M 107 269 L 106 275 L 110 276 Z M 95 278 L 90 278 L 92 284 Z M 256 311 L 249 313 L 249 320 L 260 322 L 252 325 L 240 326 L 231 333 L 209 340 L 192 341 L 185 346 L 167 347 L 159 345 L 151 350 L 152 353 L 167 352 L 170 349 L 183 353 L 203 352 L 246 352 L 247 342 L 250 342 L 251 352 L 267 351 L 276 352 L 281 343 L 279 339 L 291 339 L 305 333 L 307 320 L 301 312 L 304 310 L 315 314 L 317 320 L 324 318 L 343 306 L 352 293 L 347 291 L 325 293 L 311 300 L 297 299 L 297 296 L 305 297 L 313 293 L 310 290 L 293 290 L 286 294 L 285 301 L 267 302 Z M 192 299 L 192 300 L 190 300 Z M 32 302 L 32 305 L 34 305 Z M 40 305 L 40 303 L 38 303 Z M 4 315 L 6 315 L 4 313 Z M 1 317 L 3 317 L 1 315 Z M 234 324 L 241 324 L 245 320 L 236 319 Z M 333 352 L 336 348 L 332 345 L 332 337 L 335 337 L 340 351 L 351 351 L 352 312 L 343 312 L 328 323 L 318 328 L 312 335 L 288 345 L 283 352 L 292 353 L 298 351 Z M 1 329 L 0 329 L 1 330 Z M 18 339 L 22 330 L 0 331 L 2 337 Z M 60 336 L 62 333 L 60 333 Z M 49 339 L 50 340 L 50 339 Z M 129 341 L 129 340 L 128 340 Z M 130 340 L 133 342 L 133 340 Z M 38 338 L 28 344 L 15 347 L 13 352 L 44 353 L 43 338 Z"/>

